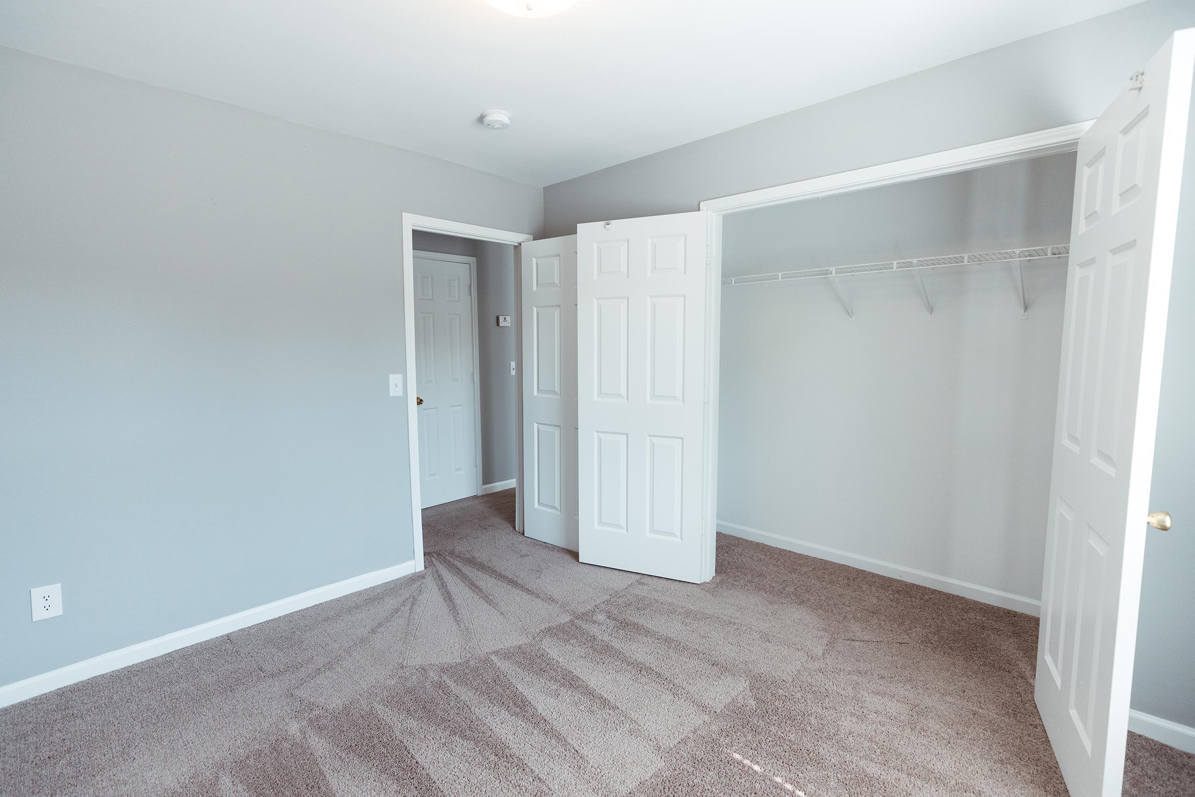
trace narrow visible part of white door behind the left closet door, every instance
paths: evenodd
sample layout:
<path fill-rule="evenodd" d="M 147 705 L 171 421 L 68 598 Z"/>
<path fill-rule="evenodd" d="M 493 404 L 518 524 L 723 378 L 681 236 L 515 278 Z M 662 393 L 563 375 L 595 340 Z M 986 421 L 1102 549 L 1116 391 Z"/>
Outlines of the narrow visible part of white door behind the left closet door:
<path fill-rule="evenodd" d="M 577 237 L 520 247 L 523 533 L 577 550 Z"/>

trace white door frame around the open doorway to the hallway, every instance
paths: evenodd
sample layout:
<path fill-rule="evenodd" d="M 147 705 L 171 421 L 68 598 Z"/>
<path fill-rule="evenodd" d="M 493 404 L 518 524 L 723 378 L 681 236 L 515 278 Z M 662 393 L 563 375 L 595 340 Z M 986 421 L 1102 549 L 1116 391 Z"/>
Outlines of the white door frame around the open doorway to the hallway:
<path fill-rule="evenodd" d="M 466 225 L 460 221 L 449 221 L 447 219 L 435 219 L 433 216 L 421 216 L 413 213 L 403 214 L 403 326 L 404 335 L 406 336 L 406 347 L 404 349 L 403 356 L 405 358 L 403 366 L 403 373 L 406 379 L 406 446 L 411 468 L 411 534 L 415 544 L 415 569 L 423 570 L 423 510 L 419 507 L 422 501 L 419 499 L 419 419 L 415 410 L 415 387 L 418 381 L 415 379 L 415 245 L 413 245 L 413 233 L 416 229 L 439 233 L 441 235 L 452 235 L 454 238 L 471 238 L 473 240 L 491 241 L 495 244 L 510 244 L 519 245 L 523 241 L 533 240 L 535 237 L 528 233 L 511 232 L 508 229 L 495 229 L 492 227 L 479 227 L 477 225 Z M 440 256 L 447 257 L 447 256 Z M 476 271 L 476 269 L 474 269 Z M 474 286 L 477 283 L 474 276 Z M 477 335 L 477 300 L 473 301 L 473 335 Z M 516 330 L 517 332 L 517 330 Z M 479 360 L 480 351 L 474 348 L 474 360 Z M 479 362 L 474 362 L 474 372 L 479 372 Z M 480 375 L 478 375 L 474 382 L 478 387 L 474 387 L 474 396 L 479 391 Z M 522 425 L 522 390 L 519 390 L 519 415 L 520 415 L 520 428 Z M 479 405 L 479 403 L 474 401 Z M 522 447 L 522 439 L 520 437 L 516 445 Z M 520 454 L 521 456 L 521 454 Z M 480 491 L 482 482 L 482 466 L 480 466 L 480 434 L 478 434 L 478 490 Z M 522 496 L 522 473 L 516 474 L 516 491 L 519 496 Z"/>

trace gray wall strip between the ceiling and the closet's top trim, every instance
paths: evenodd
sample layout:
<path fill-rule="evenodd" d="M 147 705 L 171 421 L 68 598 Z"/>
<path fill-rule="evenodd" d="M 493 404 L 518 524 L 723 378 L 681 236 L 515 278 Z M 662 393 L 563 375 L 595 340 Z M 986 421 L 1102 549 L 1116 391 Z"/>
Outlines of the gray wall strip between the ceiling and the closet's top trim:
<path fill-rule="evenodd" d="M 546 234 L 1095 118 L 1190 26 L 1195 2 L 1151 0 L 557 183 L 544 189 Z"/>

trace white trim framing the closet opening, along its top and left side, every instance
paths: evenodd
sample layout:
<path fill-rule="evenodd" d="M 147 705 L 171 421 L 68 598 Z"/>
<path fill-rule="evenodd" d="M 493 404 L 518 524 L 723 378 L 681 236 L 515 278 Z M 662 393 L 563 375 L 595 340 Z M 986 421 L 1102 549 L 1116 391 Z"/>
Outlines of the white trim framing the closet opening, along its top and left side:
<path fill-rule="evenodd" d="M 706 325 L 706 356 L 707 373 L 710 374 L 710 404 L 706 412 L 705 439 L 710 441 L 710 450 L 705 466 L 703 484 L 709 496 L 709 523 L 717 528 L 717 485 L 718 485 L 718 367 L 721 349 L 721 325 L 722 325 L 722 217 L 731 213 L 754 210 L 756 208 L 768 208 L 776 204 L 799 202 L 802 200 L 815 200 L 834 194 L 847 194 L 860 191 L 881 185 L 894 183 L 907 183 L 909 180 L 937 177 L 939 174 L 952 174 L 964 172 L 982 166 L 994 166 L 997 164 L 1029 158 L 1041 158 L 1061 152 L 1077 152 L 1079 137 L 1087 131 L 1095 119 L 1065 124 L 1062 127 L 1027 133 L 1024 135 L 998 139 L 968 147 L 956 149 L 944 149 L 942 152 L 903 160 L 894 160 L 876 166 L 865 166 L 848 172 L 826 174 L 810 179 L 785 183 L 772 188 L 733 194 L 716 200 L 706 200 L 700 203 L 701 210 L 710 213 L 709 225 L 709 251 L 711 253 L 710 277 L 712 286 L 707 300 L 710 323 Z M 712 533 L 711 533 L 712 538 Z M 713 544 L 707 546 L 709 568 L 713 569 Z M 883 572 L 883 575 L 891 575 Z"/>

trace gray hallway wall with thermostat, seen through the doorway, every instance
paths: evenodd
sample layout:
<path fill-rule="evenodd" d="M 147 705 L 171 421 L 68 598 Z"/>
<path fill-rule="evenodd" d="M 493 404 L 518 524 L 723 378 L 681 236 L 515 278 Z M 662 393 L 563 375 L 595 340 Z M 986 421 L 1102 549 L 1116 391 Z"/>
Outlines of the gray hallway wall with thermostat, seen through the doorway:
<path fill-rule="evenodd" d="M 477 258 L 477 345 L 482 386 L 482 483 L 515 478 L 517 472 L 519 384 L 510 375 L 517 331 L 515 247 L 507 244 L 416 232 L 415 249 Z M 509 315 L 510 326 L 497 317 Z"/>

